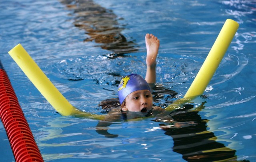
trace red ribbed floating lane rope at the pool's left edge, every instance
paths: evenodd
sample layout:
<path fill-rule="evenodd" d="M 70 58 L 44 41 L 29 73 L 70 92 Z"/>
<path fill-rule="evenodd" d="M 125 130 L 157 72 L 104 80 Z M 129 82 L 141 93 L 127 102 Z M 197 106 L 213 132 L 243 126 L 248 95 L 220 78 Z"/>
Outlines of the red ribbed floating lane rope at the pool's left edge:
<path fill-rule="evenodd" d="M 0 118 L 16 162 L 44 162 L 1 62 Z"/>

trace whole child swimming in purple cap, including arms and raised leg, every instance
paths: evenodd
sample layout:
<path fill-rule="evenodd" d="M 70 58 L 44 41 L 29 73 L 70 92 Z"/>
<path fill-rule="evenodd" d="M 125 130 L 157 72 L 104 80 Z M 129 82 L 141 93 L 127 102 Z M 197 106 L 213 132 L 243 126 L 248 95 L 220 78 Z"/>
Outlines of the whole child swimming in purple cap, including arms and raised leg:
<path fill-rule="evenodd" d="M 118 98 L 120 109 L 111 109 L 104 120 L 98 122 L 96 132 L 108 138 L 118 137 L 108 132 L 108 126 L 114 121 L 139 119 L 141 117 L 157 117 L 154 121 L 172 123 L 173 127 L 187 127 L 196 125 L 194 121 L 176 122 L 170 117 L 170 111 L 164 111 L 162 107 L 153 107 L 152 91 L 149 84 L 156 82 L 156 57 L 160 41 L 153 34 L 145 36 L 147 57 L 146 77 L 143 79 L 138 74 L 130 74 L 122 78 L 118 86 Z M 103 107 L 104 104 L 102 104 Z"/>

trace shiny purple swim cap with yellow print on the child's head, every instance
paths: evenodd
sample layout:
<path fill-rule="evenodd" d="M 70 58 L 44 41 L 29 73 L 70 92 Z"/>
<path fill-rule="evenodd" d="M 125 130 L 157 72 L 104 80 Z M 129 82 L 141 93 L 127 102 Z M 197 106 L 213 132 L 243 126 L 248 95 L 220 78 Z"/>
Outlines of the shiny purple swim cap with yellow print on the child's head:
<path fill-rule="evenodd" d="M 143 79 L 138 74 L 130 74 L 122 78 L 118 86 L 118 98 L 120 104 L 123 103 L 124 99 L 132 92 L 138 90 L 149 90 L 151 92 L 150 86 L 145 79 Z"/>

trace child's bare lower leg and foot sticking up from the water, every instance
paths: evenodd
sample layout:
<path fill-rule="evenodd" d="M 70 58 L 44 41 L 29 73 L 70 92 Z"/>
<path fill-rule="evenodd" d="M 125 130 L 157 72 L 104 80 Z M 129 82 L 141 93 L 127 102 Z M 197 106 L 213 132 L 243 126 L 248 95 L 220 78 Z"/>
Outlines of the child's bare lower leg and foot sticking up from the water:
<path fill-rule="evenodd" d="M 156 82 L 156 56 L 160 45 L 159 39 L 152 34 L 146 34 L 145 36 L 146 48 L 147 48 L 147 72 L 145 80 L 148 83 Z"/>

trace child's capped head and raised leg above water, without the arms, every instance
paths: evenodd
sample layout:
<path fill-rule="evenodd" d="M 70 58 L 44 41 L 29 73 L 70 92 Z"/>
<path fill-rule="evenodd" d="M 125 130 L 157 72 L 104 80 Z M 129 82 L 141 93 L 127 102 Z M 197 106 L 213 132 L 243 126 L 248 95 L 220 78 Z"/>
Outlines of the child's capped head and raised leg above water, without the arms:
<path fill-rule="evenodd" d="M 152 110 L 153 98 L 149 83 L 156 82 L 156 57 L 160 41 L 152 34 L 145 36 L 147 57 L 145 80 L 138 74 L 122 78 L 118 86 L 118 98 L 122 111 L 148 113 Z"/>

